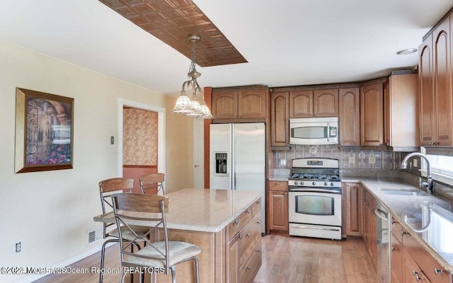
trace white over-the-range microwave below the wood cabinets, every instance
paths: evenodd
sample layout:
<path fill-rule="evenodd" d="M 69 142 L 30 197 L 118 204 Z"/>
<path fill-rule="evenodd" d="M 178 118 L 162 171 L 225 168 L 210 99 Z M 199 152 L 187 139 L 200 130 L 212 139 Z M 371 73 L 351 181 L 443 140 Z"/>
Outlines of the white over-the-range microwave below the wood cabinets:
<path fill-rule="evenodd" d="M 289 144 L 338 144 L 338 117 L 289 119 Z"/>

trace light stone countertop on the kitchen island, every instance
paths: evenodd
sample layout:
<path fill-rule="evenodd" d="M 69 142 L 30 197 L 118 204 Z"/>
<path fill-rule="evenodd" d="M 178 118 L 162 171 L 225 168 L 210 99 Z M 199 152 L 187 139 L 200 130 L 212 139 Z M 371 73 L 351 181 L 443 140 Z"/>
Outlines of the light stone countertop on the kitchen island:
<path fill-rule="evenodd" d="M 168 193 L 167 227 L 189 231 L 221 231 L 263 194 L 258 191 L 190 188 Z M 113 223 L 115 216 L 113 212 L 108 212 L 93 217 L 93 220 Z"/>

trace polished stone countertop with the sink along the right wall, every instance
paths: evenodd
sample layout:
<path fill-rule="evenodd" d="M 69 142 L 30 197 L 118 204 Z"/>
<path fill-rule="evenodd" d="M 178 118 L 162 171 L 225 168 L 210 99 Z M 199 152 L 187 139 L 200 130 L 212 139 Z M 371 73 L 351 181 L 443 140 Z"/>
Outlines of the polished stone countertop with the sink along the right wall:
<path fill-rule="evenodd" d="M 398 178 L 342 177 L 343 183 L 362 183 L 372 195 L 411 233 L 445 270 L 453 273 L 453 201 L 429 195 Z M 418 190 L 419 195 L 389 195 L 382 189 Z M 425 232 L 417 232 L 431 223 Z M 405 221 L 407 219 L 407 223 Z"/>

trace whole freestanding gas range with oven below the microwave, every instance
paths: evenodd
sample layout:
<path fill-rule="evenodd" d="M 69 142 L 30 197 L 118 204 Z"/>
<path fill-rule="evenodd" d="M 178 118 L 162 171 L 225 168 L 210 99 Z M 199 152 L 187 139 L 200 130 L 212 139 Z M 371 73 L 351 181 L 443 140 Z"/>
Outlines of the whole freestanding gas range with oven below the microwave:
<path fill-rule="evenodd" d="M 289 235 L 341 239 L 338 159 L 293 159 L 288 190 Z"/>

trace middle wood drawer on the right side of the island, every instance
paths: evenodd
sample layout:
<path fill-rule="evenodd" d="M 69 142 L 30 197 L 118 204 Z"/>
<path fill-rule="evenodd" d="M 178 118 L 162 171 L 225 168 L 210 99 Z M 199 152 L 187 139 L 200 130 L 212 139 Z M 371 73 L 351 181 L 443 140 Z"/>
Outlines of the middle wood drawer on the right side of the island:
<path fill-rule="evenodd" d="M 239 231 L 239 267 L 242 267 L 253 249 L 261 240 L 261 214 L 256 214 L 248 224 Z"/>

